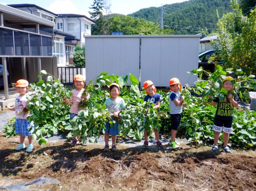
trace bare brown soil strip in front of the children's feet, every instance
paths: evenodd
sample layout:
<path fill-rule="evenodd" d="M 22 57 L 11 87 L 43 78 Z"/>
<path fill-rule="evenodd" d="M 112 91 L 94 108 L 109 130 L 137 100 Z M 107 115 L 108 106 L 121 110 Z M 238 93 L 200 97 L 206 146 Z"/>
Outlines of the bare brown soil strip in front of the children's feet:
<path fill-rule="evenodd" d="M 182 144 L 177 151 L 118 146 L 106 152 L 99 145 L 57 142 L 35 143 L 29 154 L 13 149 L 18 136 L 6 139 L 3 133 L 0 143 L 0 182 L 60 180 L 31 190 L 256 190 L 255 151 L 212 153 L 210 147 Z"/>

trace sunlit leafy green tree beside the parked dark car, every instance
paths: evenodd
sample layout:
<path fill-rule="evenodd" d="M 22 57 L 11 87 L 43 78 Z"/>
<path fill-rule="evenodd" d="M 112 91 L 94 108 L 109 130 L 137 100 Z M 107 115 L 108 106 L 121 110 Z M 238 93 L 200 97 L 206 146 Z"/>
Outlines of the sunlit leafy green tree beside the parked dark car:
<path fill-rule="evenodd" d="M 214 41 L 224 68 L 242 69 L 244 75 L 256 73 L 256 10 L 243 16 L 237 0 L 231 1 L 233 13 L 218 21 L 219 39 Z"/>

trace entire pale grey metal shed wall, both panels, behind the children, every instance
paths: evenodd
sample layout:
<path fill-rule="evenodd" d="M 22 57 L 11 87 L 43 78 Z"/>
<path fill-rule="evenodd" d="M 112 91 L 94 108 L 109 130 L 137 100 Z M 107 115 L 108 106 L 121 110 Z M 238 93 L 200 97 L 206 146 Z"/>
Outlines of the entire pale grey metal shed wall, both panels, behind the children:
<path fill-rule="evenodd" d="M 146 80 L 156 86 L 169 86 L 173 77 L 179 78 L 183 85 L 196 81 L 197 76 L 187 71 L 198 67 L 200 34 L 84 37 L 87 82 L 101 72 L 131 73 L 141 79 L 141 86 Z"/>

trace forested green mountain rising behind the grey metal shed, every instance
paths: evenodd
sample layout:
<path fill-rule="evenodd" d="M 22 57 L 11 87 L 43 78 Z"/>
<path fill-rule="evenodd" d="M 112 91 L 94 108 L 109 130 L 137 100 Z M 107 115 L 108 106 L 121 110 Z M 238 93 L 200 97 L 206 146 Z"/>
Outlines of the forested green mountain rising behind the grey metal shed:
<path fill-rule="evenodd" d="M 217 28 L 217 11 L 221 17 L 231 12 L 230 0 L 189 0 L 163 6 L 164 28 L 174 29 L 175 34 L 197 34 L 207 29 L 209 33 Z M 159 23 L 161 7 L 143 8 L 129 14 Z"/>

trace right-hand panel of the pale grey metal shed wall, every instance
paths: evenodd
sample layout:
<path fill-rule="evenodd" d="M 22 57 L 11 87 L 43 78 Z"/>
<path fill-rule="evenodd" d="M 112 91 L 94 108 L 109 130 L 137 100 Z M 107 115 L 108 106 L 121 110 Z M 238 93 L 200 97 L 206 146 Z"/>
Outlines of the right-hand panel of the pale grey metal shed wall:
<path fill-rule="evenodd" d="M 198 68 L 199 41 L 199 35 L 142 36 L 141 85 L 151 80 L 156 86 L 169 86 L 174 77 L 183 85 L 193 84 L 197 76 L 187 72 Z"/>

